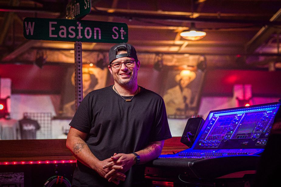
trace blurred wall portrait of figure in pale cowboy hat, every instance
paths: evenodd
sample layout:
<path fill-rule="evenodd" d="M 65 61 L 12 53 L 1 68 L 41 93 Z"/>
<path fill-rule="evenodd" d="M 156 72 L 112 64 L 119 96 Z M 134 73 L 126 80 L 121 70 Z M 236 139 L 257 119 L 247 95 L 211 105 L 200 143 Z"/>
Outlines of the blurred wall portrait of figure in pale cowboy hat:
<path fill-rule="evenodd" d="M 168 118 L 187 119 L 197 115 L 204 72 L 187 69 L 166 70 L 163 99 Z"/>

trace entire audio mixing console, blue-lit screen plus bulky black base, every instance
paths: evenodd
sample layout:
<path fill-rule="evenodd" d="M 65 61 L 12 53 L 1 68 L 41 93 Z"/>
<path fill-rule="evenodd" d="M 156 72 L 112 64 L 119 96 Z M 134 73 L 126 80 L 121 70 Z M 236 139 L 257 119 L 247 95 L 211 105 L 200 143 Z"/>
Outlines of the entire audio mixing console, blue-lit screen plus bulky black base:
<path fill-rule="evenodd" d="M 249 186 L 279 107 L 276 102 L 211 111 L 193 145 L 160 155 L 146 167 L 146 178 L 180 187 Z"/>

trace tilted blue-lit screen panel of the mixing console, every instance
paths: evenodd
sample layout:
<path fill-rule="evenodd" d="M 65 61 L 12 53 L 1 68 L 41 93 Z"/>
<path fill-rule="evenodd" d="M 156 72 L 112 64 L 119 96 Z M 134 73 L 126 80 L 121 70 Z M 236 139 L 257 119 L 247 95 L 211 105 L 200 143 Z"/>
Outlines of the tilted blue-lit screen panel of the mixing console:
<path fill-rule="evenodd" d="M 194 148 L 251 149 L 266 145 L 278 108 L 276 103 L 211 111 Z"/>

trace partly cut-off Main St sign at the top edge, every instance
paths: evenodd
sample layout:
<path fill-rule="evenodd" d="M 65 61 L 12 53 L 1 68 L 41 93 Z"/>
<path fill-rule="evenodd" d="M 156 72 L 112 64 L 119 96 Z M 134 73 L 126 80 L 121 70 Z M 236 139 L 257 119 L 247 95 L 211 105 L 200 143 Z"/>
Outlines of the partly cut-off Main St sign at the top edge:
<path fill-rule="evenodd" d="M 83 18 L 91 12 L 91 0 L 72 0 L 66 6 L 66 17 Z"/>

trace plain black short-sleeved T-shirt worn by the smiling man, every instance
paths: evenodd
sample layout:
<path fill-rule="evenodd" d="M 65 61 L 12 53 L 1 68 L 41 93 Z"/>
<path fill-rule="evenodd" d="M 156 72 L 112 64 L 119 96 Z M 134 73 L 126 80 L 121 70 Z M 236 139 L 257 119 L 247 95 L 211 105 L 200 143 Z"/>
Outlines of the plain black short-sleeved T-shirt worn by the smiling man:
<path fill-rule="evenodd" d="M 90 92 L 70 125 L 88 133 L 85 142 L 99 160 L 108 159 L 115 152 L 133 153 L 144 149 L 149 142 L 172 137 L 163 99 L 142 87 L 131 102 L 125 102 L 112 86 Z M 133 186 L 143 181 L 144 169 L 144 165 L 134 165 L 125 173 L 125 182 L 120 181 L 118 186 Z M 72 185 L 116 186 L 79 161 Z"/>

